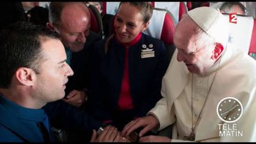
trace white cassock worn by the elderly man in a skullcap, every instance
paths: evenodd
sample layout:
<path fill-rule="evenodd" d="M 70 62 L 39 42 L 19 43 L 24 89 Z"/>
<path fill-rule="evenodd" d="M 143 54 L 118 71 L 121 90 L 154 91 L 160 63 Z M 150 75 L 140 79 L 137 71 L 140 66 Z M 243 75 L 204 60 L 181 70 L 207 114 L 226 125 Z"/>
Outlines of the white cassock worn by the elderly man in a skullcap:
<path fill-rule="evenodd" d="M 216 78 L 213 80 L 215 73 Z M 191 73 L 184 62 L 177 61 L 176 50 L 162 79 L 163 98 L 149 111 L 159 120 L 158 130 L 174 124 L 172 142 L 185 140 L 184 134 L 191 132 L 191 123 L 196 123 L 202 110 L 195 128 L 195 141 L 256 142 L 256 61 L 237 47 L 228 45 L 219 66 L 210 69 L 205 76 L 193 75 L 194 115 L 191 120 Z M 218 124 L 225 122 L 217 116 L 216 107 L 225 97 L 237 98 L 242 103 L 244 111 L 235 122 L 242 136 L 219 135 Z M 206 104 L 202 109 L 204 100 Z"/>

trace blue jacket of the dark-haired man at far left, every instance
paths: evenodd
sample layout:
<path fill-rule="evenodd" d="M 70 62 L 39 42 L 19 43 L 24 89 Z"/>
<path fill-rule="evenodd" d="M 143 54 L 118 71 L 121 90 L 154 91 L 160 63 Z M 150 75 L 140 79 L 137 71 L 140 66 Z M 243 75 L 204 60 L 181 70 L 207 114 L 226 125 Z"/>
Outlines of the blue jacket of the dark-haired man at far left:
<path fill-rule="evenodd" d="M 40 126 L 45 127 L 44 131 Z M 44 110 L 21 107 L 0 95 L 0 142 L 55 140 Z"/>

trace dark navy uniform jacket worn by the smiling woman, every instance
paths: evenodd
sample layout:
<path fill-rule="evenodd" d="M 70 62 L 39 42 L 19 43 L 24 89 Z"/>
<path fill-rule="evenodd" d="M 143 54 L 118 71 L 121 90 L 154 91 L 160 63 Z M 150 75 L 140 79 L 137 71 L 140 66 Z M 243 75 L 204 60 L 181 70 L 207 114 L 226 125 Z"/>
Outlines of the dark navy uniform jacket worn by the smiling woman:
<path fill-rule="evenodd" d="M 129 82 L 133 109 L 120 111 L 117 106 L 124 73 L 125 47 L 113 38 L 105 54 L 105 42 L 106 39 L 94 45 L 88 110 L 102 121 L 112 120 L 112 124 L 121 130 L 130 120 L 146 116 L 161 98 L 161 81 L 168 60 L 164 43 L 146 34 L 142 34 L 141 39 L 129 47 Z M 153 49 L 154 57 L 142 58 L 145 46 Z"/>

